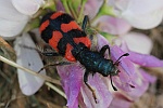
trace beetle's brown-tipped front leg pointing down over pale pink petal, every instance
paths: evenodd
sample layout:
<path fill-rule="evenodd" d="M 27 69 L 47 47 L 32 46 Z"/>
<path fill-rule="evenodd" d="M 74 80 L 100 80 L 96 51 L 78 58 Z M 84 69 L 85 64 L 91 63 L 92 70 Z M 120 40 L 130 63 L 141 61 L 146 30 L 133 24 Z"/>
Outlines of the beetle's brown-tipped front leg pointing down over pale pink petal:
<path fill-rule="evenodd" d="M 98 103 L 98 102 L 97 102 L 97 96 L 96 96 L 95 90 L 87 83 L 87 81 L 88 81 L 88 76 L 89 76 L 89 71 L 86 70 L 86 72 L 85 72 L 85 75 L 84 75 L 84 82 L 85 82 L 85 84 L 88 86 L 88 89 L 91 91 L 95 102 Z"/>

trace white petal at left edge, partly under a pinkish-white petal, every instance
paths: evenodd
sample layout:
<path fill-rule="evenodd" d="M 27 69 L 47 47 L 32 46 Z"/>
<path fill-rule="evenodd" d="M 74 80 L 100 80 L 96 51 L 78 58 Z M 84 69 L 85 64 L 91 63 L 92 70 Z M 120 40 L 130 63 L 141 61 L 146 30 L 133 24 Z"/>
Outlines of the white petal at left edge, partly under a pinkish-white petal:
<path fill-rule="evenodd" d="M 0 35 L 3 37 L 18 35 L 29 17 L 17 12 L 10 0 L 0 0 Z"/>

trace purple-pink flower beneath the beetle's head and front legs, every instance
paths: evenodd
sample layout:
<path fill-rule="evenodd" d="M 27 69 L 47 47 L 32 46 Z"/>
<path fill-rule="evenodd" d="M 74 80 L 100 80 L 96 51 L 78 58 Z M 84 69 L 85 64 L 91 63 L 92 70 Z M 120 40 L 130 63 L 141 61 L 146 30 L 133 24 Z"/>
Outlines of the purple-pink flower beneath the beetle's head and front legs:
<path fill-rule="evenodd" d="M 98 37 L 98 49 L 102 48 L 105 44 L 109 44 L 108 41 L 100 35 Z M 110 46 L 111 48 L 111 59 L 116 60 L 122 54 L 125 52 L 122 51 L 118 46 Z M 154 66 L 154 67 L 163 67 L 162 60 L 154 58 L 149 55 L 141 55 L 137 53 L 128 52 L 130 55 L 127 57 L 123 57 L 121 59 L 121 64 L 118 66 L 120 73 L 118 76 L 114 76 L 113 82 L 117 87 L 117 92 L 112 92 L 113 89 L 110 86 L 110 78 L 102 77 L 99 73 L 96 73 L 93 77 L 89 76 L 88 83 L 95 89 L 98 104 L 95 103 L 92 94 L 90 90 L 85 85 L 83 81 L 83 76 L 85 72 L 85 68 L 79 64 L 72 64 L 68 66 L 60 66 L 58 67 L 58 72 L 62 79 L 62 85 L 67 96 L 67 106 L 70 108 L 77 108 L 78 104 L 85 107 L 95 108 L 102 107 L 108 108 L 114 106 L 112 102 L 114 98 L 122 102 L 127 103 L 126 106 L 129 106 L 136 98 L 139 98 L 148 89 L 149 83 L 154 82 L 155 78 L 149 76 L 143 70 L 139 70 L 134 66 L 135 64 L 139 64 L 142 66 Z M 108 55 L 108 54 L 106 54 Z M 135 57 L 134 57 L 135 56 Z M 145 57 L 145 59 L 150 59 L 152 63 L 148 63 L 148 60 L 142 60 L 140 56 Z M 131 58 L 133 57 L 133 58 Z M 135 60 L 135 58 L 137 60 Z M 146 64 L 145 64 L 146 63 Z M 123 95 L 123 99 L 118 98 Z M 112 100 L 113 99 L 113 100 Z"/>

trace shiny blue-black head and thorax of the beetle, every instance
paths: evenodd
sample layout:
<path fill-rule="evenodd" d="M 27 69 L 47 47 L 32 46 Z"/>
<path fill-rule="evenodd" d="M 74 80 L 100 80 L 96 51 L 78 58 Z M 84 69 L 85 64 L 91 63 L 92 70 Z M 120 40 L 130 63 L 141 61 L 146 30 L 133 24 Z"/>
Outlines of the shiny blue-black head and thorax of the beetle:
<path fill-rule="evenodd" d="M 99 52 L 90 51 L 85 46 L 79 48 L 79 50 L 74 49 L 72 54 L 87 70 L 99 72 L 104 77 L 116 70 L 113 62 L 104 58 Z"/>

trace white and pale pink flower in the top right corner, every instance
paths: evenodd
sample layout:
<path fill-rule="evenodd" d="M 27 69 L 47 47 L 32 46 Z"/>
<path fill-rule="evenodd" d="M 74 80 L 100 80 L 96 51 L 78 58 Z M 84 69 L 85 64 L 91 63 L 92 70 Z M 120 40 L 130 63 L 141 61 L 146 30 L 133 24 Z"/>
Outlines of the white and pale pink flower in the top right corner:
<path fill-rule="evenodd" d="M 92 18 L 101 4 L 101 0 L 88 0 L 84 13 Z M 163 19 L 163 0 L 109 0 L 108 6 L 113 8 L 115 17 L 103 15 L 96 24 L 100 24 L 101 30 L 113 35 L 124 35 L 130 27 L 150 29 L 156 27 Z"/>

